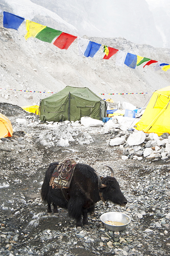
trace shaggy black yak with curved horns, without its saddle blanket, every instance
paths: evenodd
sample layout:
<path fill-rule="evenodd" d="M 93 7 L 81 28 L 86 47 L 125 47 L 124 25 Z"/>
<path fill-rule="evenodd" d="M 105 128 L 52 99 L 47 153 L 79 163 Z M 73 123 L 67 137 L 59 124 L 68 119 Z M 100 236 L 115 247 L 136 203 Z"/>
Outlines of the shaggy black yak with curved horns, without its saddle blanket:
<path fill-rule="evenodd" d="M 47 213 L 51 214 L 51 203 L 54 213 L 58 215 L 57 206 L 68 210 L 69 216 L 76 219 L 76 227 L 89 227 L 87 213 L 94 212 L 95 203 L 101 199 L 110 200 L 115 204 L 126 205 L 127 200 L 120 190 L 119 183 L 114 177 L 113 168 L 111 176 L 100 177 L 95 170 L 87 164 L 76 164 L 74 175 L 69 188 L 55 188 L 49 186 L 51 175 L 58 163 L 49 165 L 41 189 L 42 200 L 47 201 Z"/>

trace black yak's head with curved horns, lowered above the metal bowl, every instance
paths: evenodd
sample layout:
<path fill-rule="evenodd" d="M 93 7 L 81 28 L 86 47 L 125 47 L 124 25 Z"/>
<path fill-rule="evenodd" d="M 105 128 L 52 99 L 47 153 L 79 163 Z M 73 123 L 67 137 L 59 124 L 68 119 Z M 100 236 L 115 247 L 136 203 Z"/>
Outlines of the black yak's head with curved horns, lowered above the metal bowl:
<path fill-rule="evenodd" d="M 111 169 L 111 176 L 104 177 L 101 180 L 98 173 L 96 173 L 98 177 L 99 193 L 102 193 L 102 196 L 105 201 L 110 200 L 114 204 L 125 206 L 127 204 L 127 199 L 124 197 L 120 189 L 119 183 L 114 177 L 113 168 L 108 165 L 105 166 Z"/>

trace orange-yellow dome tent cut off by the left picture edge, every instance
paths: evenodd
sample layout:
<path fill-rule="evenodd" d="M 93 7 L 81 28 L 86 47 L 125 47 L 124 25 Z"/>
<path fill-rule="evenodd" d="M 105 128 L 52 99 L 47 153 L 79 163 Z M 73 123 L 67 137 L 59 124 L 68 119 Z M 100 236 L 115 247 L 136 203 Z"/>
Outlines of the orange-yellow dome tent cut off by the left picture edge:
<path fill-rule="evenodd" d="M 0 113 L 0 138 L 11 137 L 13 133 L 10 120 Z"/>

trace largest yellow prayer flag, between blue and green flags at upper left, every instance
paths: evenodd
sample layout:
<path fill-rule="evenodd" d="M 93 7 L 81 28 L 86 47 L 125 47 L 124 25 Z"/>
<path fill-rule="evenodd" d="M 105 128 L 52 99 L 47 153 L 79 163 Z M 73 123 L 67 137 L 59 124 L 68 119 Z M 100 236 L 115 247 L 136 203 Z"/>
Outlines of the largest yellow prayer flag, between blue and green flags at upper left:
<path fill-rule="evenodd" d="M 46 26 L 27 20 L 26 29 L 28 32 L 25 35 L 25 39 L 27 40 L 29 37 L 35 37 L 44 28 L 46 28 Z"/>

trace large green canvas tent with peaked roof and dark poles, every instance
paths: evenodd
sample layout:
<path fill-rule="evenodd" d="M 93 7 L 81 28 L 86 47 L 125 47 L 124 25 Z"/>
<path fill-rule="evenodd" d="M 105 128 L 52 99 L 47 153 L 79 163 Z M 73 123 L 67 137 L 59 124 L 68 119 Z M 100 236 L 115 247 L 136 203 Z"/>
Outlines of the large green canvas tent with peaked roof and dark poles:
<path fill-rule="evenodd" d="M 77 121 L 82 116 L 101 120 L 107 116 L 107 104 L 87 87 L 66 86 L 40 102 L 40 120 Z"/>

